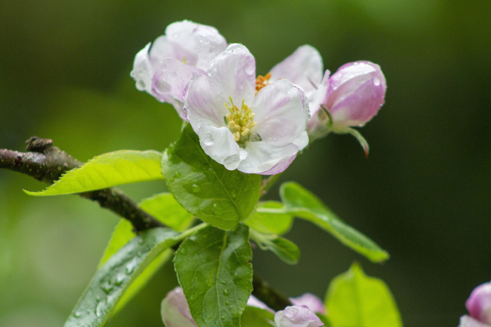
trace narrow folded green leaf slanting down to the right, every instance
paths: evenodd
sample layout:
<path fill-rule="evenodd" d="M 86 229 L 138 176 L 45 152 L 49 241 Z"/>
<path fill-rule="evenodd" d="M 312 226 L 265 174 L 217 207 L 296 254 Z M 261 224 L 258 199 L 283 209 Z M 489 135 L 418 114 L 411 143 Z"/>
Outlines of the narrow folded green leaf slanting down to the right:
<path fill-rule="evenodd" d="M 283 210 L 276 211 L 291 213 L 311 221 L 331 233 L 341 243 L 363 254 L 371 261 L 381 262 L 388 259 L 389 254 L 382 250 L 374 241 L 355 228 L 346 225 L 319 198 L 299 184 L 286 182 L 281 185 L 280 197 L 285 207 Z"/>

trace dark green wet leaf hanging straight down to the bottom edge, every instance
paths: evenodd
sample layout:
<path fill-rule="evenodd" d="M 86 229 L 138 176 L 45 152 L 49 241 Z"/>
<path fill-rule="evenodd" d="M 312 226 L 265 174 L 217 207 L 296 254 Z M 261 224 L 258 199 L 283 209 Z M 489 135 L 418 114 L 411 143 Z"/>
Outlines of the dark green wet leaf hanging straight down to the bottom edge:
<path fill-rule="evenodd" d="M 252 292 L 252 252 L 248 227 L 234 231 L 212 226 L 185 240 L 174 267 L 199 327 L 238 327 Z"/>

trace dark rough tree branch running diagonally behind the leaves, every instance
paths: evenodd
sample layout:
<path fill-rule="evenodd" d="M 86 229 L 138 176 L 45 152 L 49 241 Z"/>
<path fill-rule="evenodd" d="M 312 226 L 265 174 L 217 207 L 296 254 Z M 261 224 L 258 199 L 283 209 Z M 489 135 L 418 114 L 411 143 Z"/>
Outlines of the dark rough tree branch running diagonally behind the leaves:
<path fill-rule="evenodd" d="M 9 169 L 52 184 L 67 171 L 82 165 L 81 161 L 53 146 L 53 140 L 33 136 L 26 143 L 27 152 L 0 149 L 0 168 Z M 263 188 L 263 191 L 267 191 L 277 177 L 272 178 L 273 180 L 270 179 L 270 183 Z M 79 193 L 79 195 L 82 198 L 98 202 L 101 207 L 130 221 L 136 232 L 164 226 L 115 187 Z M 282 310 L 285 306 L 292 305 L 286 297 L 255 275 L 252 285 L 252 294 L 273 310 Z"/>

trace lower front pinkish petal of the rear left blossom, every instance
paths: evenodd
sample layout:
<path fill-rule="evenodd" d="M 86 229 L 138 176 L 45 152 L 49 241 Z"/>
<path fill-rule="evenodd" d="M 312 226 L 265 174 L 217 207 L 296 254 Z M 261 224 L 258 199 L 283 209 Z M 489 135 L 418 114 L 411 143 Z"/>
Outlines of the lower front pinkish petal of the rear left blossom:
<path fill-rule="evenodd" d="M 165 58 L 152 78 L 152 94 L 160 101 L 169 102 L 181 110 L 192 74 L 206 74 L 201 69 L 174 58 Z"/>

